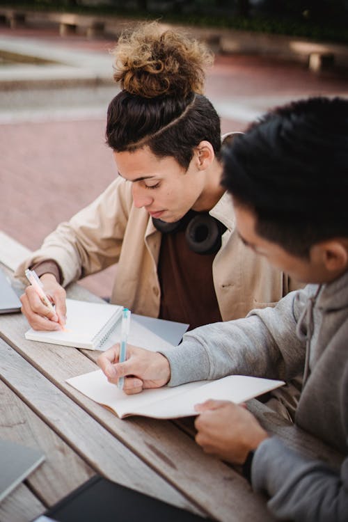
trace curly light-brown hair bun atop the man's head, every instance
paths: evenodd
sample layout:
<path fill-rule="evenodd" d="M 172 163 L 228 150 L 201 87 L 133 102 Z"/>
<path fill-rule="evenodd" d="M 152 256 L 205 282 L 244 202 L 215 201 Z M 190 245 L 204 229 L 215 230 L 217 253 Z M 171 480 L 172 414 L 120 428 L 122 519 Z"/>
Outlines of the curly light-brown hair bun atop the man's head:
<path fill-rule="evenodd" d="M 123 90 L 146 98 L 203 94 L 205 68 L 213 62 L 205 45 L 183 33 L 163 31 L 158 22 L 122 33 L 114 55 L 113 78 Z"/>

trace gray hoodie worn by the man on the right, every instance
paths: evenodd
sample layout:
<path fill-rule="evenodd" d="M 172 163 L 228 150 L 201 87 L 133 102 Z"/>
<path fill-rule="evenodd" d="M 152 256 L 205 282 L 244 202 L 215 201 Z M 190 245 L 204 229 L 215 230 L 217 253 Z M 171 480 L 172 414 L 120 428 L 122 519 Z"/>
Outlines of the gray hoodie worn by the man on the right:
<path fill-rule="evenodd" d="M 304 369 L 296 425 L 346 458 L 338 472 L 274 436 L 255 452 L 253 489 L 269 495 L 279 518 L 348 521 L 348 272 L 246 319 L 202 326 L 161 353 L 171 365 L 170 386 L 229 374 L 289 380 Z"/>

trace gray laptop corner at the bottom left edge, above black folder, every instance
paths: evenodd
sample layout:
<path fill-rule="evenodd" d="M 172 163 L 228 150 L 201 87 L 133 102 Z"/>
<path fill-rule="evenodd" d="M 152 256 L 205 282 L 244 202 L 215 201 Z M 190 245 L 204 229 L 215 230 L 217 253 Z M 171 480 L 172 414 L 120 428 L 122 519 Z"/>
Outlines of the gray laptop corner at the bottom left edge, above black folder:
<path fill-rule="evenodd" d="M 0 440 L 0 502 L 44 460 L 40 450 Z"/>

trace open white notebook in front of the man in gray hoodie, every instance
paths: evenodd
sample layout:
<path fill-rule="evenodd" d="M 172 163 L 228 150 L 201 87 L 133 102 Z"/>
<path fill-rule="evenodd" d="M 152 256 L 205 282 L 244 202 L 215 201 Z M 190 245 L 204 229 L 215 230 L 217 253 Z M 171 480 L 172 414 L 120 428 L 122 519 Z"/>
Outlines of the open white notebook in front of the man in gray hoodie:
<path fill-rule="evenodd" d="M 107 381 L 102 370 L 72 377 L 67 382 L 90 399 L 111 409 L 120 418 L 142 415 L 159 419 L 197 415 L 195 404 L 208 399 L 244 402 L 285 384 L 284 381 L 273 379 L 230 375 L 216 381 L 196 381 L 126 395 L 115 384 Z"/>

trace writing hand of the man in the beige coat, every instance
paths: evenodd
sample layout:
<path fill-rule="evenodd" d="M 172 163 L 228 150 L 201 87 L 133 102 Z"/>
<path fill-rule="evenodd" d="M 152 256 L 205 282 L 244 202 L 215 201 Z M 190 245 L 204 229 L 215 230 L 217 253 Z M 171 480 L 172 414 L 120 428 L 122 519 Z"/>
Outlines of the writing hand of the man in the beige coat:
<path fill-rule="evenodd" d="M 49 301 L 55 304 L 55 310 L 52 311 L 45 306 L 35 288 L 29 285 L 19 298 L 22 302 L 22 313 L 34 330 L 61 330 L 65 324 L 66 292 L 53 274 L 43 274 L 40 280 L 43 284 L 42 290 Z"/>

